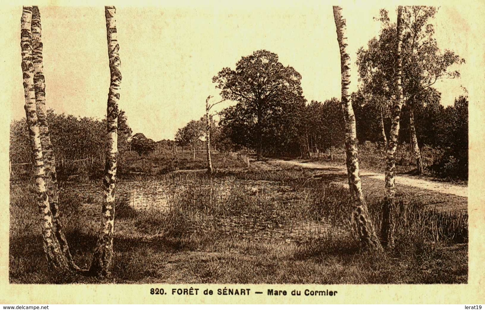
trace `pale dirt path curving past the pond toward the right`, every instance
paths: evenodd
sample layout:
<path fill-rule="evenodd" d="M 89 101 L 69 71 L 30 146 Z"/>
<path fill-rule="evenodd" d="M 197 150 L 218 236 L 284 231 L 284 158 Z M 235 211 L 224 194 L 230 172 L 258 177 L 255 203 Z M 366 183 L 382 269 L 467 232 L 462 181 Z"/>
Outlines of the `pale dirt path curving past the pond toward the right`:
<path fill-rule="evenodd" d="M 292 164 L 305 168 L 322 169 L 323 173 L 342 174 L 344 177 L 347 173 L 346 169 L 341 166 L 331 166 L 324 163 L 300 163 L 297 161 L 285 160 L 270 160 L 269 163 Z M 384 174 L 369 172 L 361 170 L 360 176 L 363 178 L 379 179 L 384 181 Z M 403 184 L 420 189 L 434 191 L 442 194 L 455 195 L 460 197 L 468 197 L 468 186 L 454 185 L 445 182 L 430 181 L 409 176 L 396 176 L 396 184 Z"/>

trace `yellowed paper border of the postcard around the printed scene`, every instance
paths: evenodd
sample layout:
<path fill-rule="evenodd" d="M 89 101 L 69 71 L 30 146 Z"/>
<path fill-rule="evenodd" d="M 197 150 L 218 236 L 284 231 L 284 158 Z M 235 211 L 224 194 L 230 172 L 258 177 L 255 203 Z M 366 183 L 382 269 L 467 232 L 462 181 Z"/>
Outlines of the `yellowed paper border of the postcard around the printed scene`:
<path fill-rule="evenodd" d="M 111 2 L 113 3 L 113 1 Z M 25 3 L 29 4 L 29 3 Z M 81 5 L 99 6 L 97 1 L 42 1 L 38 5 Z M 315 10 L 330 10 L 332 3 L 321 1 L 241 1 L 232 3 L 230 1 L 114 1 L 118 7 L 123 6 L 161 6 L 161 7 L 212 7 L 214 9 L 240 9 L 251 10 L 259 8 L 271 10 L 273 7 L 283 7 L 298 11 L 305 7 Z M 380 7 L 381 1 L 342 1 L 342 5 L 364 5 Z M 395 2 L 397 5 L 397 2 Z M 150 284 L 150 285 L 13 285 L 8 281 L 8 242 L 9 242 L 9 169 L 8 169 L 8 145 L 9 145 L 9 123 L 10 115 L 9 102 L 12 90 L 12 83 L 20 81 L 9 81 L 9 70 L 20 70 L 20 63 L 6 64 L 1 62 L 1 85 L 3 90 L 0 94 L 4 106 L 4 112 L 0 114 L 1 124 L 1 148 L 0 148 L 0 174 L 1 174 L 1 199 L 2 209 L 0 212 L 0 303 L 9 304 L 58 304 L 58 303 L 457 303 L 476 304 L 484 303 L 484 255 L 485 255 L 485 185 L 481 179 L 484 173 L 483 158 L 484 152 L 484 68 L 485 68 L 485 47 L 483 16 L 485 14 L 485 3 L 480 0 L 458 3 L 455 1 L 406 1 L 400 4 L 434 4 L 434 5 L 456 5 L 462 12 L 466 12 L 467 20 L 471 25 L 470 31 L 474 32 L 474 42 L 466 42 L 469 49 L 473 51 L 473 58 L 467 62 L 473 63 L 474 83 L 464 85 L 469 90 L 469 279 L 468 284 L 461 285 L 233 285 L 233 284 Z M 5 8 L 12 5 L 21 5 L 18 2 L 3 2 L 0 12 L 5 14 L 9 10 Z M 389 5 L 386 3 L 386 5 Z M 18 11 L 20 20 L 20 10 Z M 1 27 L 11 27 L 2 23 Z M 17 24 L 14 25 L 18 27 Z M 2 32 L 3 33 L 3 32 Z M 1 46 L 19 44 L 19 39 L 11 42 L 9 38 L 0 35 Z M 322 43 L 323 44 L 323 43 Z M 337 44 L 332 42 L 332 44 Z M 199 294 L 192 296 L 172 295 L 172 288 L 198 288 Z M 214 292 L 224 288 L 250 288 L 251 292 L 262 291 L 264 294 L 250 296 L 237 295 L 203 295 L 205 289 Z M 151 295 L 151 288 L 163 288 L 166 295 Z M 287 296 L 267 296 L 267 289 L 286 290 Z M 291 296 L 294 289 L 301 290 L 333 290 L 338 291 L 335 296 Z"/>

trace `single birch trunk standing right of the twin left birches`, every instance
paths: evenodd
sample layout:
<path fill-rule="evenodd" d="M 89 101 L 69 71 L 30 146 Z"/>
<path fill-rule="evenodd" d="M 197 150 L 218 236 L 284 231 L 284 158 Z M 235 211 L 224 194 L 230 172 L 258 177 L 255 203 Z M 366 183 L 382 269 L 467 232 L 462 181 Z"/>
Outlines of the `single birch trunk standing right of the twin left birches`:
<path fill-rule="evenodd" d="M 116 163 L 118 160 L 118 100 L 120 98 L 121 61 L 119 57 L 118 36 L 116 33 L 116 9 L 105 6 L 108 56 L 110 59 L 111 83 L 106 109 L 106 165 L 103 179 L 103 203 L 101 208 L 100 236 L 93 255 L 90 271 L 99 276 L 110 274 L 113 259 L 114 234 L 114 188 L 116 183 Z"/>

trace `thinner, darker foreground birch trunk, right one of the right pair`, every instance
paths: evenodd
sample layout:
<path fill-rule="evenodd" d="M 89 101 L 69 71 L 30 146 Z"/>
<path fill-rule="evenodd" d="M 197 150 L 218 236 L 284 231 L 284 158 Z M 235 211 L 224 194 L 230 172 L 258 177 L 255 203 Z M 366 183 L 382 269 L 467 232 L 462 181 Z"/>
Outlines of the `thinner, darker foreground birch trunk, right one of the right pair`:
<path fill-rule="evenodd" d="M 395 70 L 395 83 L 396 83 L 396 101 L 392 108 L 392 125 L 389 132 L 389 141 L 387 147 L 386 156 L 386 174 L 385 174 L 385 186 L 387 192 L 387 199 L 384 203 L 382 213 L 382 228 L 381 235 L 383 238 L 383 244 L 387 247 L 394 246 L 394 208 L 395 208 L 395 170 L 396 170 L 396 149 L 399 137 L 399 123 L 401 117 L 401 108 L 403 106 L 403 86 L 401 83 L 403 66 L 401 49 L 403 44 L 403 21 L 402 21 L 403 7 L 398 7 L 397 15 L 397 50 L 396 50 L 396 70 Z"/>

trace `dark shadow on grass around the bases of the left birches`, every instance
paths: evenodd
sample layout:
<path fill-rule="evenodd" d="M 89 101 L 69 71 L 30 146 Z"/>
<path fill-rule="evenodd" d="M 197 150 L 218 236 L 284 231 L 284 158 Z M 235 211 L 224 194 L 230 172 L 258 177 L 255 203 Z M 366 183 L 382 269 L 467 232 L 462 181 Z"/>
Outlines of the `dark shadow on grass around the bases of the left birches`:
<path fill-rule="evenodd" d="M 89 268 L 97 243 L 95 235 L 69 232 L 66 239 L 74 261 L 81 268 Z M 165 238 L 149 240 L 115 236 L 113 239 L 113 278 L 137 281 L 153 276 L 157 266 L 154 256 L 165 257 L 170 253 L 194 251 L 213 242 L 211 238 Z M 23 236 L 10 242 L 9 278 L 11 283 L 100 283 L 100 279 L 81 275 L 57 275 L 49 272 L 41 236 Z M 155 268 L 155 269 L 154 269 Z M 101 282 L 110 282 L 106 278 Z"/>

